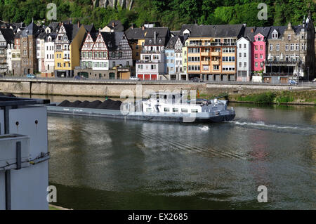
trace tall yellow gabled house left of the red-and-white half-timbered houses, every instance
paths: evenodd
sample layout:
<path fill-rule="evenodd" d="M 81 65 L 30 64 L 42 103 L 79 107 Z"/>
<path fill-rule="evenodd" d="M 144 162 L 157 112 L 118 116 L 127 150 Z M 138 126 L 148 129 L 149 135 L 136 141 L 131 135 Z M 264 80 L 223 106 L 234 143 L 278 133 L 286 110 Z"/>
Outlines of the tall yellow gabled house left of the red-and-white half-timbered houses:
<path fill-rule="evenodd" d="M 80 65 L 80 48 L 84 41 L 84 25 L 62 24 L 55 39 L 55 77 L 73 77 Z"/>

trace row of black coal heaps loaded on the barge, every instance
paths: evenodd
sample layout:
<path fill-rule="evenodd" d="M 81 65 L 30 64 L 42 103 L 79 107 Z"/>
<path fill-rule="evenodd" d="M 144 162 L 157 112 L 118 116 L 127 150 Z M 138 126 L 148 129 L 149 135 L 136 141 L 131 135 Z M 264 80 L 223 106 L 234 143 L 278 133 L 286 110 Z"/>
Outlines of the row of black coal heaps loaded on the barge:
<path fill-rule="evenodd" d="M 84 101 L 81 102 L 79 100 L 74 103 L 70 103 L 68 100 L 62 101 L 59 107 L 78 107 L 78 108 L 91 108 L 91 109 L 104 109 L 104 110 L 120 110 L 121 109 L 121 101 L 117 100 L 105 100 L 103 103 L 100 100 L 95 100 L 93 102 Z"/>

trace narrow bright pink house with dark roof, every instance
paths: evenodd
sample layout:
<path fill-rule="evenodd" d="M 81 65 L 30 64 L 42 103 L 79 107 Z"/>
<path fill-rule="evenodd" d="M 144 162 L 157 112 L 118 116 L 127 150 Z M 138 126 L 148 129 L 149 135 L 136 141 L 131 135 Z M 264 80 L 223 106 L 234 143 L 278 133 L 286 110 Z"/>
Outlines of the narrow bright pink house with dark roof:
<path fill-rule="evenodd" d="M 254 75 L 265 72 L 265 58 L 267 58 L 267 37 L 270 27 L 256 27 L 254 39 L 251 44 L 251 70 Z"/>

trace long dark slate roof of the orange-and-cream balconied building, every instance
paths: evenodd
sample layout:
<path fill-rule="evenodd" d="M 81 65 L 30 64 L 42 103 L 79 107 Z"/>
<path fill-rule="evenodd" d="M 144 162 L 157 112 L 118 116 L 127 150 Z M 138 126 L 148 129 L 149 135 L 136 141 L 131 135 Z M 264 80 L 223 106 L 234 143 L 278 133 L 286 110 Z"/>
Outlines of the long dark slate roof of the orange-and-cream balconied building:
<path fill-rule="evenodd" d="M 244 25 L 183 25 L 181 34 L 185 29 L 190 30 L 190 37 L 239 37 Z"/>

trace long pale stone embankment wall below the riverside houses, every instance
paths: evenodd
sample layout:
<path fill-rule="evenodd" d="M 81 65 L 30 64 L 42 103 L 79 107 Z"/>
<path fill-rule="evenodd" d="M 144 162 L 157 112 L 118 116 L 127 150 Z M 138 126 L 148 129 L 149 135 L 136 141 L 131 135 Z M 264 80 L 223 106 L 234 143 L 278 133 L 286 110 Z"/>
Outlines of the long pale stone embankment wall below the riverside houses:
<path fill-rule="evenodd" d="M 289 84 L 267 84 L 237 81 L 131 81 L 122 79 L 27 79 L 25 77 L 1 78 L 0 92 L 13 94 L 37 95 L 78 95 L 78 96 L 110 96 L 119 97 L 124 90 L 133 91 L 136 95 L 138 86 L 141 91 L 180 91 L 197 90 L 201 94 L 216 93 L 260 93 L 263 91 L 287 91 L 316 89 L 315 83 L 300 83 L 297 86 Z"/>

